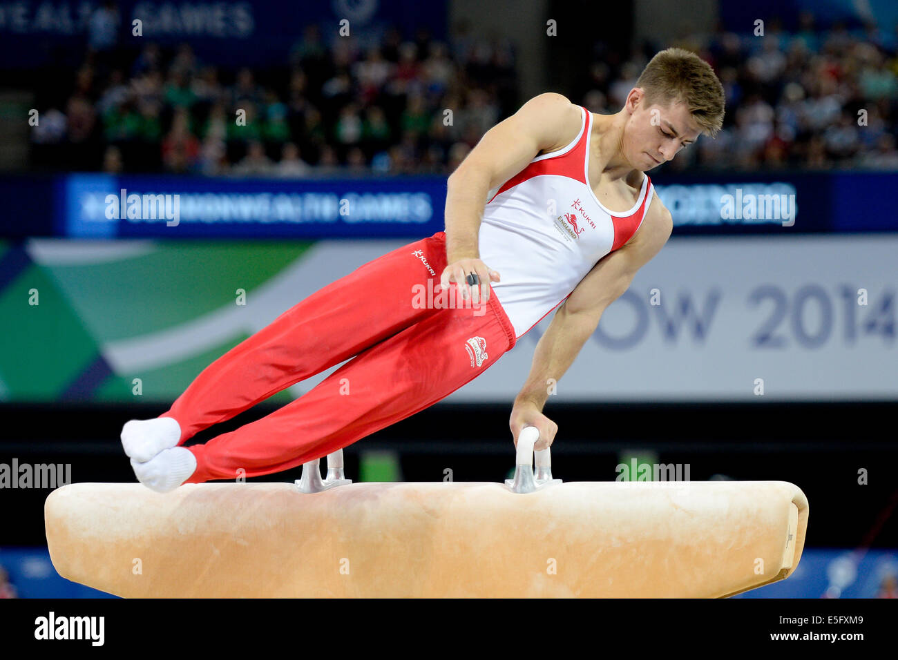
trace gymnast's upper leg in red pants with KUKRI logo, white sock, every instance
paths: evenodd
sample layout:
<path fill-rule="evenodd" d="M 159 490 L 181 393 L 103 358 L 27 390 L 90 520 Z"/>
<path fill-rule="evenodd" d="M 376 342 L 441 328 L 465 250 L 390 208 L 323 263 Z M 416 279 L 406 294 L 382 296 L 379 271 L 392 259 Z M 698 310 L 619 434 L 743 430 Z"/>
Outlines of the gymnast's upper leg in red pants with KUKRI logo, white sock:
<path fill-rule="evenodd" d="M 208 365 L 159 418 L 125 424 L 132 465 L 426 317 L 433 310 L 416 306 L 413 286 L 439 286 L 445 258 L 445 233 L 437 232 L 308 296 Z"/>

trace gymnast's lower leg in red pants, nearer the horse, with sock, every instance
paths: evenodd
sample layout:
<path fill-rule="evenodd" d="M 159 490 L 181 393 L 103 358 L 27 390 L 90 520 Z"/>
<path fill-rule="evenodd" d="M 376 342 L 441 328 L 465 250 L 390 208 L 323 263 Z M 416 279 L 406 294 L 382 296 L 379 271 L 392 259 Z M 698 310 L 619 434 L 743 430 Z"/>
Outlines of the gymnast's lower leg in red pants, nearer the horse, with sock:
<path fill-rule="evenodd" d="M 454 286 L 454 285 L 453 285 Z M 321 458 L 425 409 L 482 374 L 514 346 L 515 333 L 490 295 L 480 313 L 443 309 L 342 365 L 299 399 L 206 444 L 188 447 L 194 471 L 172 470 L 160 453 L 150 488 L 185 480 L 254 477 Z"/>

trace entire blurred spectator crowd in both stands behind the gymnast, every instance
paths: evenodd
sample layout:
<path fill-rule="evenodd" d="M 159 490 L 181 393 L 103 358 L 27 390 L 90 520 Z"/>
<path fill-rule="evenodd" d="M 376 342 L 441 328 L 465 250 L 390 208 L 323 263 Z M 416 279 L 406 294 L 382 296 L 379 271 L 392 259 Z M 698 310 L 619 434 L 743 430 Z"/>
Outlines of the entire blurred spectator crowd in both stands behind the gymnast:
<path fill-rule="evenodd" d="M 32 164 L 65 171 L 303 177 L 448 174 L 524 100 L 515 54 L 456 30 L 449 44 L 395 28 L 374 47 L 304 28 L 285 66 L 222 70 L 188 44 L 114 49 L 114 7 L 93 17 L 71 89 L 41 110 Z M 567 93 L 620 110 L 643 66 L 670 45 L 697 52 L 726 90 L 716 139 L 700 137 L 663 168 L 898 168 L 895 34 L 818 29 L 716 31 L 621 54 L 596 42 Z M 558 66 L 558 65 L 556 65 Z M 549 90 L 547 90 L 549 91 Z"/>

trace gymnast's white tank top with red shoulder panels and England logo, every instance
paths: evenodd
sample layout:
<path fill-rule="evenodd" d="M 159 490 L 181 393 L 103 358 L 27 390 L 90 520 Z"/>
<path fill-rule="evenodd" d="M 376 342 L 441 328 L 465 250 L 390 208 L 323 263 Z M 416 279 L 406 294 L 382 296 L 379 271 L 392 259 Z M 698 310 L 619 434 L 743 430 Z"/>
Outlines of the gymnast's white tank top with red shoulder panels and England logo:
<path fill-rule="evenodd" d="M 502 277 L 493 291 L 517 339 L 563 302 L 596 261 L 632 238 L 653 197 L 646 175 L 628 211 L 602 206 L 588 177 L 593 116 L 580 110 L 577 137 L 534 158 L 484 208 L 480 260 Z"/>

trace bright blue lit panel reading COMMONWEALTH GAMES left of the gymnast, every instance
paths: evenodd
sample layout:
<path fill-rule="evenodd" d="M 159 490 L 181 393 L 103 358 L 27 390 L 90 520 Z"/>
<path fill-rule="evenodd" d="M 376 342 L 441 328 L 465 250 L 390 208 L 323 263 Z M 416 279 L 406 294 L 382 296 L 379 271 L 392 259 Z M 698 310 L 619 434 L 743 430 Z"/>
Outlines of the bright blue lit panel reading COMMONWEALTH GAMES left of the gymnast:
<path fill-rule="evenodd" d="M 419 237 L 443 229 L 445 179 L 69 176 L 63 233 L 113 237 Z"/>

